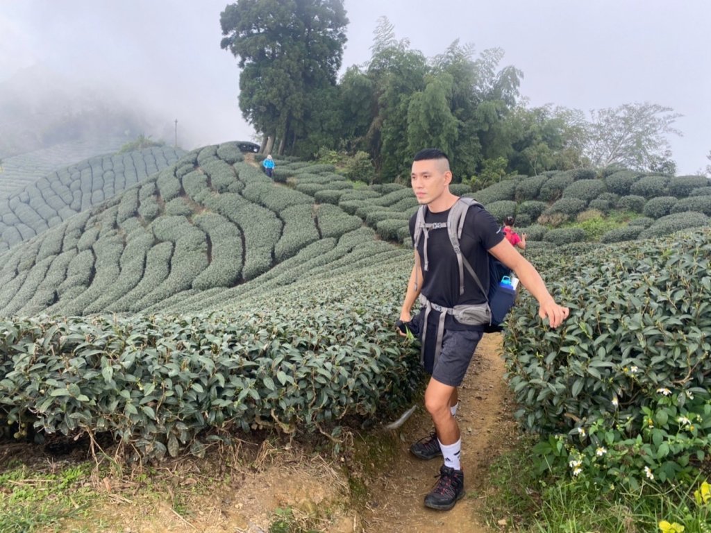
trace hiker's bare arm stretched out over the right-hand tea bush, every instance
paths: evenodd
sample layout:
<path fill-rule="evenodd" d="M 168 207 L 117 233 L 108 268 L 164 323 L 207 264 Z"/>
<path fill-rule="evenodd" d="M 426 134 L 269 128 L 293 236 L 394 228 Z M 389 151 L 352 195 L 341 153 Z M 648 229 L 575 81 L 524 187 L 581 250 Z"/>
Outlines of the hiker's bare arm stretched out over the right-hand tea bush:
<path fill-rule="evenodd" d="M 545 283 L 532 264 L 528 262 L 506 239 L 490 248 L 488 252 L 513 270 L 521 284 L 538 300 L 538 315 L 548 318 L 550 326 L 557 328 L 568 317 L 570 311 L 555 303 Z"/>

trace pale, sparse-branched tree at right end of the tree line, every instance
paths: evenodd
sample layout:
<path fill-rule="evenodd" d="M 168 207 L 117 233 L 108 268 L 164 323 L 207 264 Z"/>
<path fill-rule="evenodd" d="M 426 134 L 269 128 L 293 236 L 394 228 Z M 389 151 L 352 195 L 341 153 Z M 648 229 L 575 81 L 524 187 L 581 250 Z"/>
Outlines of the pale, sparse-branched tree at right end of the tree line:
<path fill-rule="evenodd" d="M 644 102 L 591 112 L 584 154 L 593 168 L 619 166 L 639 171 L 669 170 L 667 134 L 680 114 L 670 107 Z"/>

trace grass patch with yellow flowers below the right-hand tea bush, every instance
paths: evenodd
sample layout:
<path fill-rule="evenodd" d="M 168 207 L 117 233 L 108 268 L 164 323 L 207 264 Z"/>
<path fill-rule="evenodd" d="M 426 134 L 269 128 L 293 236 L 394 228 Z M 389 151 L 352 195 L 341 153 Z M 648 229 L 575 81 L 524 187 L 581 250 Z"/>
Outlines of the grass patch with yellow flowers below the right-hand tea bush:
<path fill-rule="evenodd" d="M 486 522 L 510 533 L 711 533 L 711 486 L 594 487 L 567 473 L 539 474 L 535 439 L 521 438 L 489 469 Z"/>

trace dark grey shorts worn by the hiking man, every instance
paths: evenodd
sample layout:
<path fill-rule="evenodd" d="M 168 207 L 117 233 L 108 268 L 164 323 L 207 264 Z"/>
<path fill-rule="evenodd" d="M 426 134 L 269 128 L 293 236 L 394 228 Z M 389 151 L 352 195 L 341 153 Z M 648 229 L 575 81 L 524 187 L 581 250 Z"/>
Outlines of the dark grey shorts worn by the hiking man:
<path fill-rule="evenodd" d="M 479 330 L 444 330 L 442 352 L 437 361 L 434 361 L 434 350 L 424 351 L 424 370 L 440 383 L 459 387 L 482 335 L 483 331 Z"/>

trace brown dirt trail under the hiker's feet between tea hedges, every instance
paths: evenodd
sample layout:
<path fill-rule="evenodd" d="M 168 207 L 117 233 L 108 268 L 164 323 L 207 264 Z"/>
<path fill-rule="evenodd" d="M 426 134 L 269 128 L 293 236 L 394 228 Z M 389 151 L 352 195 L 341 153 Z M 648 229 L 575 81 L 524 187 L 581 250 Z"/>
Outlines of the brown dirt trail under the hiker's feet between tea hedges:
<path fill-rule="evenodd" d="M 508 447 L 515 423 L 506 406 L 501 333 L 484 335 L 469 366 L 459 394 L 457 419 L 462 436 L 462 468 L 467 497 L 454 509 L 441 512 L 422 504 L 434 485 L 441 460 L 421 461 L 410 454 L 410 444 L 432 430 L 424 409 L 418 409 L 400 429 L 400 454 L 388 473 L 371 484 L 368 510 L 363 516 L 368 533 L 474 533 L 490 531 L 477 515 L 477 493 L 486 487 L 486 468 Z"/>

